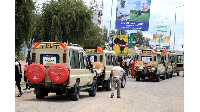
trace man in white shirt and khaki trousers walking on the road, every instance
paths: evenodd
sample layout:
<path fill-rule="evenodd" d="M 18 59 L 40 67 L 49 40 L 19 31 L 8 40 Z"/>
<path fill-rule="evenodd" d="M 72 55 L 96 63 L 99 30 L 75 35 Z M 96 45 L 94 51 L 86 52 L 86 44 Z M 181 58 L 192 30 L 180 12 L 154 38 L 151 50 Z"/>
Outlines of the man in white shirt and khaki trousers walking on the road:
<path fill-rule="evenodd" d="M 112 92 L 111 92 L 111 98 L 114 96 L 114 90 L 115 90 L 115 85 L 117 83 L 117 98 L 120 97 L 120 88 L 121 88 L 121 79 L 124 75 L 124 70 L 123 68 L 120 67 L 120 63 L 117 62 L 116 66 L 113 67 L 112 69 L 112 77 L 113 77 L 113 83 L 112 83 Z"/>

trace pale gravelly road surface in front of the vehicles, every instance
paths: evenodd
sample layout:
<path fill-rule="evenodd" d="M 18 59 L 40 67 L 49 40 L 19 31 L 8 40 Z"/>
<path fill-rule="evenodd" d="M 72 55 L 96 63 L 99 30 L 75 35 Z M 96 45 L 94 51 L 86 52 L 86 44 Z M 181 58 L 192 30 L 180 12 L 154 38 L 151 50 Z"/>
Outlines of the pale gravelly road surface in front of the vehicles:
<path fill-rule="evenodd" d="M 23 89 L 23 88 L 22 88 Z M 17 88 L 15 88 L 17 96 Z M 33 89 L 31 89 L 33 91 Z M 184 77 L 174 74 L 173 78 L 155 82 L 150 79 L 135 81 L 127 78 L 126 87 L 121 89 L 121 98 L 110 98 L 111 91 L 98 88 L 95 97 L 80 92 L 78 101 L 65 95 L 49 93 L 44 99 L 36 99 L 29 91 L 15 97 L 16 112 L 183 112 Z"/>

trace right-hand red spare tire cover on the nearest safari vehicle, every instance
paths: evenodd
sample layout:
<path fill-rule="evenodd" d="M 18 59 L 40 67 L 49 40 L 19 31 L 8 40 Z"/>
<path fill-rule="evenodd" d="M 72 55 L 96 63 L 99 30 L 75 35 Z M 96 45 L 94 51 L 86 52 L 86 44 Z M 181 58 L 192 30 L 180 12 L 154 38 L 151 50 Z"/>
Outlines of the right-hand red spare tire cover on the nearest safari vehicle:
<path fill-rule="evenodd" d="M 52 82 L 61 84 L 67 80 L 69 71 L 65 65 L 57 63 L 49 68 L 48 76 Z"/>

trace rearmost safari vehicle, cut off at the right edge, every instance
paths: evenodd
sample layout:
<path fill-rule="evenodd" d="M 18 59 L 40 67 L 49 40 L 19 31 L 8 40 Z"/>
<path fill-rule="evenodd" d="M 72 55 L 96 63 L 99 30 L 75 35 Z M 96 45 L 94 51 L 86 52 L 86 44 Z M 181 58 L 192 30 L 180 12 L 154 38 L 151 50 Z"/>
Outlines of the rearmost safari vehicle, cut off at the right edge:
<path fill-rule="evenodd" d="M 172 57 L 171 63 L 173 64 L 173 73 L 177 73 L 177 76 L 180 76 L 180 71 L 184 71 L 184 54 L 182 51 L 171 51 L 170 55 Z"/>

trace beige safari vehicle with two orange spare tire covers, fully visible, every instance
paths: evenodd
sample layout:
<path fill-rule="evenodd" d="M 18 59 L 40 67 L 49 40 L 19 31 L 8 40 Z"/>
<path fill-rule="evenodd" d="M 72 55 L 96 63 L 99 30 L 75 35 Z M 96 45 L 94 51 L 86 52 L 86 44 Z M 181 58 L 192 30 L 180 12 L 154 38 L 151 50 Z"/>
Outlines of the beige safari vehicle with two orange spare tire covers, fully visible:
<path fill-rule="evenodd" d="M 161 62 L 162 54 L 152 49 L 141 50 L 141 53 L 136 57 L 136 63 L 134 66 L 136 81 L 145 77 L 156 79 L 160 81 L 160 77 L 163 80 L 166 78 L 165 67 Z"/>

